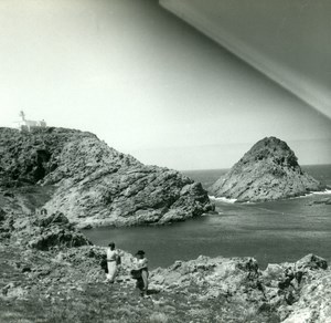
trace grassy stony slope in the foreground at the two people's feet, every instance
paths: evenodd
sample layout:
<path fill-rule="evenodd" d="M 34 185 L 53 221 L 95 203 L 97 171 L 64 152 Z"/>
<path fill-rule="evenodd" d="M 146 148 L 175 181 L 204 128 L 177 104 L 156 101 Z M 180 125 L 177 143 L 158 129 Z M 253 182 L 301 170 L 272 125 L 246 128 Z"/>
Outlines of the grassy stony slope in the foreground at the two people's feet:
<path fill-rule="evenodd" d="M 132 280 L 104 283 L 92 258 L 54 259 L 56 252 L 0 248 L 0 289 L 14 285 L 0 296 L 0 322 L 278 322 L 224 296 L 199 301 L 194 285 L 142 299 Z M 28 267 L 31 271 L 23 273 Z"/>

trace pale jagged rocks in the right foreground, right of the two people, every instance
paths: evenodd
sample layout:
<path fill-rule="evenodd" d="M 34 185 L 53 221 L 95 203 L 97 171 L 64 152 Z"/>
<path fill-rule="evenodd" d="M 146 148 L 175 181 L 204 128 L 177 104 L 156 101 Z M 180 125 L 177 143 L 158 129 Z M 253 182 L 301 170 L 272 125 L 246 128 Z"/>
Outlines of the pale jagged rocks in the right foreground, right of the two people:
<path fill-rule="evenodd" d="M 236 322 L 330 322 L 331 273 L 327 261 L 313 254 L 266 270 L 252 258 L 201 256 L 154 270 L 151 281 L 190 300 L 236 304 L 234 317 L 236 311 L 242 313 Z M 223 322 L 221 308 L 217 319 Z"/>

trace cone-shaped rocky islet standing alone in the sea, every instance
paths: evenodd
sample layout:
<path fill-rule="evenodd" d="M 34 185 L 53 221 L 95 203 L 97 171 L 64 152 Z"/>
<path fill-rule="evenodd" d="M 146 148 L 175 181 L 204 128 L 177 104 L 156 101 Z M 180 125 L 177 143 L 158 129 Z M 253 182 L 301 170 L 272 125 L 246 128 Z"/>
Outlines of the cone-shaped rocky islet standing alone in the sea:
<path fill-rule="evenodd" d="M 266 201 L 301 196 L 324 187 L 302 171 L 288 145 L 267 137 L 256 143 L 211 188 L 215 197 L 237 201 Z"/>

